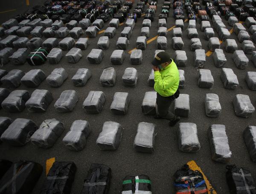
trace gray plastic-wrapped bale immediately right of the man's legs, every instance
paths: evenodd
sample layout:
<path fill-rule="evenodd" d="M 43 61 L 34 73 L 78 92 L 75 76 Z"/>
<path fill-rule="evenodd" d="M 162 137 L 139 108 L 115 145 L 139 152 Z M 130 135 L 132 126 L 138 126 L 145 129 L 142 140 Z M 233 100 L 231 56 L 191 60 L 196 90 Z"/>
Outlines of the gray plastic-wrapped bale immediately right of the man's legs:
<path fill-rule="evenodd" d="M 174 101 L 174 113 L 176 116 L 188 117 L 190 113 L 189 95 L 180 94 Z"/>

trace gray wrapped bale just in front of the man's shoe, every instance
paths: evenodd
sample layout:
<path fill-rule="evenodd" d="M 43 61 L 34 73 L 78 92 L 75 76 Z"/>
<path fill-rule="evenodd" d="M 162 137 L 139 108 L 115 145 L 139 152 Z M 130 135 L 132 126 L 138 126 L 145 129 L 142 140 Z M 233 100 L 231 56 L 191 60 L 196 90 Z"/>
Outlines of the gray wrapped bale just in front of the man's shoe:
<path fill-rule="evenodd" d="M 201 148 L 195 123 L 179 123 L 177 130 L 179 150 L 198 152 Z"/>

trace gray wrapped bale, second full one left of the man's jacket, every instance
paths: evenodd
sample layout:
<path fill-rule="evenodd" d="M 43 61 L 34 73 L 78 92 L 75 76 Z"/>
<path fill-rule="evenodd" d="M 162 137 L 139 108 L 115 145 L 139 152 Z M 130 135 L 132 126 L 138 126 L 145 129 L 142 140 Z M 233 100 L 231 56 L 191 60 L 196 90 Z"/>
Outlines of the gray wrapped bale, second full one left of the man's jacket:
<path fill-rule="evenodd" d="M 113 67 L 109 67 L 103 70 L 102 75 L 99 78 L 103 87 L 112 87 L 116 83 L 116 71 Z"/>

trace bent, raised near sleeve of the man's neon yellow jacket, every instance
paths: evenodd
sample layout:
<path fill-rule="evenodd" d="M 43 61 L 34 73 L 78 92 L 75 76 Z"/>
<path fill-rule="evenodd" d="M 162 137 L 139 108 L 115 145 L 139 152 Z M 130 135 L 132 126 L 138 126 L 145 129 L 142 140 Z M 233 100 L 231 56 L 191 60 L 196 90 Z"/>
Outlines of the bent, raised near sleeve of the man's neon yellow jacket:
<path fill-rule="evenodd" d="M 155 82 L 155 84 L 157 84 L 157 87 L 160 90 L 166 90 L 175 83 L 175 80 L 173 78 L 173 75 L 167 75 L 162 78 L 160 72 L 155 71 L 154 72 L 154 82 Z"/>

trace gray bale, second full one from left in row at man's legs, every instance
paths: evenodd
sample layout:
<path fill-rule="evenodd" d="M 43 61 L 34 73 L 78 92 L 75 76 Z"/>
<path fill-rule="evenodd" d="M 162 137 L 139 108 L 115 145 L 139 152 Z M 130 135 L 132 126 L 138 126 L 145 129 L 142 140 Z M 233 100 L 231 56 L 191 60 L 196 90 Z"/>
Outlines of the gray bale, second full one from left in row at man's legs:
<path fill-rule="evenodd" d="M 31 97 L 26 101 L 29 112 L 45 112 L 52 102 L 52 94 L 48 90 L 34 90 Z"/>

